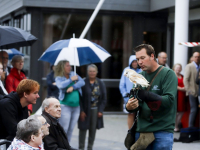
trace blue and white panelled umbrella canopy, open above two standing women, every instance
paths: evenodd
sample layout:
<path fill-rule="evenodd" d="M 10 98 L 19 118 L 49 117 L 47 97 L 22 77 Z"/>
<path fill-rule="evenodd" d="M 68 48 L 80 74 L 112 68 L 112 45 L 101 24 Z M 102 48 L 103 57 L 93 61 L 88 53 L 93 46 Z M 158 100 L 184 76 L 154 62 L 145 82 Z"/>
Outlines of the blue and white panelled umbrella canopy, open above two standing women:
<path fill-rule="evenodd" d="M 57 65 L 61 60 L 68 60 L 70 65 L 82 66 L 104 62 L 111 55 L 101 46 L 86 39 L 71 38 L 52 44 L 39 58 Z"/>

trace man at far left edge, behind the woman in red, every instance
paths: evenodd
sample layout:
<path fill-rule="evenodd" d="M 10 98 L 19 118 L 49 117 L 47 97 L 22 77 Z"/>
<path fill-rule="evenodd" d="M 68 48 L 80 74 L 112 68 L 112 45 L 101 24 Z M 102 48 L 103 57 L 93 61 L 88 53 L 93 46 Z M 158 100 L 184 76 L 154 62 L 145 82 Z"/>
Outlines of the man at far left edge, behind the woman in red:
<path fill-rule="evenodd" d="M 8 53 L 5 51 L 0 51 L 0 62 L 3 64 L 4 74 L 1 76 L 1 81 L 5 80 L 5 77 L 9 75 L 11 67 L 8 66 Z"/>

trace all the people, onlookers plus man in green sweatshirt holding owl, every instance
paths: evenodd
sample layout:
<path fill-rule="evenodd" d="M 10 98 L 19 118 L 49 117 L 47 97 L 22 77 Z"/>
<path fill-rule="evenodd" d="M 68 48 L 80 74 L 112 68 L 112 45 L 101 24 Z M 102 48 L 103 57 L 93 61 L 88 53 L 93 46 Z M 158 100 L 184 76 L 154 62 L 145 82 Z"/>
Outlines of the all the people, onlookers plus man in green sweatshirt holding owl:
<path fill-rule="evenodd" d="M 189 127 L 195 124 L 198 96 L 200 95 L 199 52 L 193 53 L 192 61 L 185 66 L 167 65 L 167 54 L 160 52 L 156 58 L 154 48 L 142 44 L 129 58 L 129 66 L 149 81 L 149 88 L 135 88 L 135 95 L 128 97 L 134 84 L 121 76 L 119 89 L 124 99 L 123 110 L 128 115 L 130 129 L 138 114 L 136 140 L 143 140 L 144 133 L 152 133 L 150 149 L 172 149 L 173 132 L 180 131 L 181 119 L 189 97 Z M 27 79 L 23 72 L 24 58 L 12 58 L 8 67 L 8 54 L 0 52 L 0 139 L 12 141 L 8 150 L 76 150 L 70 146 L 75 125 L 79 128 L 79 150 L 85 149 L 86 133 L 89 132 L 87 150 L 92 150 L 96 129 L 104 127 L 103 111 L 107 102 L 106 87 L 98 77 L 94 64 L 87 67 L 82 79 L 71 71 L 70 62 L 60 61 L 51 66 L 47 75 L 47 98 L 42 102 L 42 114 L 31 115 L 36 104 L 40 84 Z M 199 96 L 200 97 L 200 96 Z"/>

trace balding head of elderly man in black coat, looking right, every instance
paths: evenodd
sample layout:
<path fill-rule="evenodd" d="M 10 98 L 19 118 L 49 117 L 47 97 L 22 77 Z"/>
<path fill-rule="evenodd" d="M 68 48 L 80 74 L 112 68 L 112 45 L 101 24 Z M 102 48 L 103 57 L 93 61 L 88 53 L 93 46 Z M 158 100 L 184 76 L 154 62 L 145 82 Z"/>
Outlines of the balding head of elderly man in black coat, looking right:
<path fill-rule="evenodd" d="M 53 97 L 47 98 L 42 103 L 42 111 L 45 111 L 52 117 L 58 119 L 61 117 L 60 102 Z"/>

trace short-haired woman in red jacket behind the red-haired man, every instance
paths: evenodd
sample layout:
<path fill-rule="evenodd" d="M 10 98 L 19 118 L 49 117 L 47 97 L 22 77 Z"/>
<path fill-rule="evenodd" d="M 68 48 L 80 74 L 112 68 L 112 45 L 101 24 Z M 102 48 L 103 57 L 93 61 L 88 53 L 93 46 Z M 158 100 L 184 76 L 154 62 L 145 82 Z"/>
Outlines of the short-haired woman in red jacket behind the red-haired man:
<path fill-rule="evenodd" d="M 11 64 L 13 68 L 10 70 L 10 74 L 6 78 L 6 90 L 8 93 L 14 91 L 16 92 L 19 82 L 26 79 L 22 68 L 24 66 L 24 57 L 20 55 L 15 55 L 12 58 Z M 32 112 L 32 104 L 28 105 L 29 114 Z"/>

